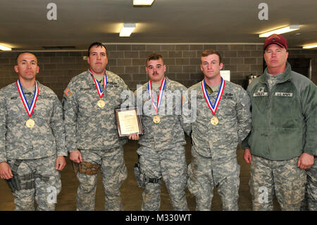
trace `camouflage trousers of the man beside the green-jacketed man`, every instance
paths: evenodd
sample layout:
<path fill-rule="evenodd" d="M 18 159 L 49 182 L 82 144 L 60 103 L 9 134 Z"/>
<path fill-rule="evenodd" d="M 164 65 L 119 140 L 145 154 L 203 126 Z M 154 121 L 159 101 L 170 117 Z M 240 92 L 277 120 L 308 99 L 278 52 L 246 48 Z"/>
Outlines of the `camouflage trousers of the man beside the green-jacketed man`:
<path fill-rule="evenodd" d="M 196 210 L 211 210 L 213 188 L 223 203 L 223 210 L 238 210 L 240 165 L 237 158 L 212 159 L 203 157 L 192 146 L 192 162 L 188 165 L 187 188 L 196 197 Z"/>

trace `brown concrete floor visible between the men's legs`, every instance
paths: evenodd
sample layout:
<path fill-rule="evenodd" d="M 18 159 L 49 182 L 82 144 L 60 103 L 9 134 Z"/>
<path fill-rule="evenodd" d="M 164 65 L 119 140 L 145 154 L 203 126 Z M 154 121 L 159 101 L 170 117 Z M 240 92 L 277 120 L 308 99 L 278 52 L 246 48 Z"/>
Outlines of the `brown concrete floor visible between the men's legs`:
<path fill-rule="evenodd" d="M 187 164 L 190 162 L 190 140 L 187 138 L 186 149 L 186 159 Z M 142 189 L 137 186 L 135 181 L 135 175 L 133 167 L 135 162 L 137 162 L 137 142 L 129 141 L 128 144 L 124 146 L 125 151 L 125 162 L 128 168 L 128 178 L 123 183 L 121 187 L 121 193 L 123 195 L 123 209 L 127 211 L 141 210 L 142 205 Z M 251 194 L 249 193 L 249 169 L 250 166 L 244 162 L 243 151 L 238 147 L 237 149 L 237 162 L 241 166 L 240 172 L 240 189 L 239 189 L 239 209 L 241 211 L 251 210 Z M 57 197 L 56 210 L 58 211 L 71 211 L 76 209 L 76 193 L 78 181 L 73 173 L 73 167 L 67 159 L 66 168 L 61 172 L 62 179 L 62 190 Z M 216 189 L 214 190 L 215 195 L 212 201 L 212 210 L 219 211 L 222 209 L 220 196 L 218 195 Z M 97 194 L 96 194 L 96 205 L 95 210 L 104 210 L 104 188 L 101 186 L 101 176 L 99 174 L 98 184 L 97 184 Z M 186 197 L 189 210 L 195 209 L 195 198 L 186 189 Z M 9 190 L 6 182 L 0 180 L 0 211 L 8 211 L 14 209 L 13 195 Z M 274 202 L 274 209 L 280 210 L 278 203 Z M 170 206 L 170 198 L 166 186 L 163 185 L 161 188 L 161 208 L 160 210 L 169 211 L 172 210 Z"/>

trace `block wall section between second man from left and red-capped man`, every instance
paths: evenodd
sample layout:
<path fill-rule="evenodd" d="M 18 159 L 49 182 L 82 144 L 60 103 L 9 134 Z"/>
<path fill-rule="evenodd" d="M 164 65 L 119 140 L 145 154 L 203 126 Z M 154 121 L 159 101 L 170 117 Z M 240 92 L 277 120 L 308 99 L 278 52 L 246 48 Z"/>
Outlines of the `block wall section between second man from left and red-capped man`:
<path fill-rule="evenodd" d="M 259 75 L 262 71 L 261 47 L 261 44 L 108 44 L 108 70 L 118 73 L 135 90 L 148 80 L 144 69 L 147 56 L 157 52 L 163 56 L 168 78 L 190 87 L 204 78 L 200 69 L 201 52 L 213 48 L 223 58 L 223 69 L 231 71 L 232 82 L 244 85 L 247 75 Z"/>

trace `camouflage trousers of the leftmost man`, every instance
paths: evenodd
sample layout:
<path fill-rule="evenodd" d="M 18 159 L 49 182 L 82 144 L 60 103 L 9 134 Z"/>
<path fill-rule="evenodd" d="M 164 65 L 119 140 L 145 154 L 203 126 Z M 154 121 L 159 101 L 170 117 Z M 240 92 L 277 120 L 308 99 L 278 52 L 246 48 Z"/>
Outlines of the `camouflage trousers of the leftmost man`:
<path fill-rule="evenodd" d="M 11 169 L 14 162 L 15 159 L 8 160 Z M 32 174 L 35 188 L 15 190 L 15 211 L 34 211 L 34 200 L 39 211 L 55 210 L 56 198 L 61 192 L 61 175 L 55 166 L 56 156 L 22 160 L 15 173 L 20 177 Z"/>

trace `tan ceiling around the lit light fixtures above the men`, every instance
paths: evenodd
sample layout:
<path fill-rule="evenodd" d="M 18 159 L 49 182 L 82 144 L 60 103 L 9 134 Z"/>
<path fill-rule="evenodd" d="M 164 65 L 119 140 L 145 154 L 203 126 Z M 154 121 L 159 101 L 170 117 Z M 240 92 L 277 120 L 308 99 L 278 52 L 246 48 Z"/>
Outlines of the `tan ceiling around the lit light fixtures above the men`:
<path fill-rule="evenodd" d="M 0 1 L 0 43 L 14 49 L 104 43 L 262 43 L 259 32 L 290 24 L 291 48 L 317 42 L 316 0 L 266 0 L 268 20 L 260 20 L 263 0 L 156 0 L 133 7 L 132 0 Z M 49 3 L 56 20 L 49 20 Z M 53 14 L 51 14 L 53 15 Z M 136 23 L 130 37 L 119 37 L 123 23 Z"/>

